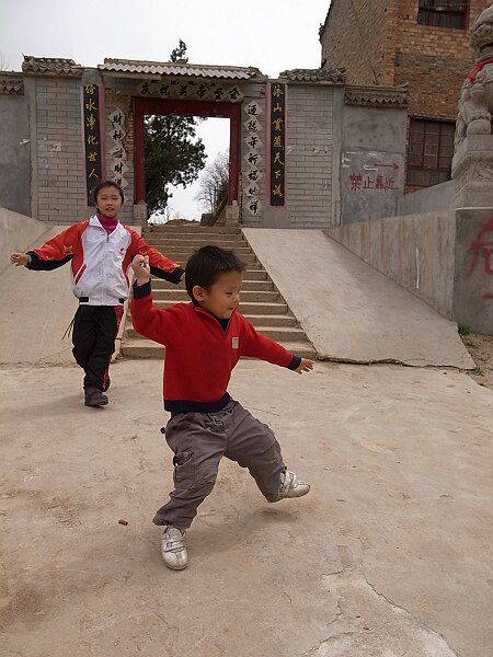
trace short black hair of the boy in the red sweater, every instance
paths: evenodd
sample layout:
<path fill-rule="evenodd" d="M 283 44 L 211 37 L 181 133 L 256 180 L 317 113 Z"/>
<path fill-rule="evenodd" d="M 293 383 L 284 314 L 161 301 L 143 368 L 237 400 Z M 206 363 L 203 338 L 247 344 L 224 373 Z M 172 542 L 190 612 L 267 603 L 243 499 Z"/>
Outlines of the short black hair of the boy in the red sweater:
<path fill-rule="evenodd" d="M 194 251 L 186 263 L 186 291 L 193 299 L 193 289 L 196 285 L 208 290 L 216 283 L 219 274 L 244 272 L 245 268 L 246 265 L 232 251 L 208 244 Z"/>

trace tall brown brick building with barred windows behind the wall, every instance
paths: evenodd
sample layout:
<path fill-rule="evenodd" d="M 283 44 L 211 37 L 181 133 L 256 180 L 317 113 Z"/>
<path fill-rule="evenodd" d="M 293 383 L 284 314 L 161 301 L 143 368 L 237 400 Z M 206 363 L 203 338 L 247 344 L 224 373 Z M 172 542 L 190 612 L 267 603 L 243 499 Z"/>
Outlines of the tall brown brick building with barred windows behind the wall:
<path fill-rule="evenodd" d="M 405 191 L 450 178 L 469 32 L 490 0 L 332 0 L 320 28 L 322 68 L 348 84 L 408 84 Z"/>

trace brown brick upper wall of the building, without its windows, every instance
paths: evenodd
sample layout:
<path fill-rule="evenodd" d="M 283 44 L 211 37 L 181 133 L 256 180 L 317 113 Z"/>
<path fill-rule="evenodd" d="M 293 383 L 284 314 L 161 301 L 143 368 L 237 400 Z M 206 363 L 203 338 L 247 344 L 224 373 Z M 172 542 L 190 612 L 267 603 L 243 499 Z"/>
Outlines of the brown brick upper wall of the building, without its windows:
<path fill-rule="evenodd" d="M 320 38 L 324 68 L 345 67 L 349 84 L 408 82 L 411 116 L 455 120 L 473 61 L 470 26 L 490 5 L 470 0 L 468 28 L 451 30 L 420 25 L 417 0 L 332 0 Z"/>

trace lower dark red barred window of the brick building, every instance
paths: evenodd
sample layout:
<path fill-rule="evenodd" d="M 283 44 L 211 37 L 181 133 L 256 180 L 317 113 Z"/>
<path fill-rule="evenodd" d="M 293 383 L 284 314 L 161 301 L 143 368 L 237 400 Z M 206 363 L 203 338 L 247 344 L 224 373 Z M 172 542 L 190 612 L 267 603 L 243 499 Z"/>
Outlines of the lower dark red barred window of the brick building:
<path fill-rule="evenodd" d="M 431 187 L 450 180 L 456 124 L 412 118 L 409 129 L 410 187 Z"/>

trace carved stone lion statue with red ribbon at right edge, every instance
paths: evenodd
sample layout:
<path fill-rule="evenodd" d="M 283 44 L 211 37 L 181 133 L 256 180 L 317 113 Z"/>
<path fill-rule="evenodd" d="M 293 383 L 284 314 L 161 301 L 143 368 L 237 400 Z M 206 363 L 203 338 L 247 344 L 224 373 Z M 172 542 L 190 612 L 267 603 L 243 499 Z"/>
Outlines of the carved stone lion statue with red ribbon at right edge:
<path fill-rule="evenodd" d="M 475 19 L 469 41 L 475 64 L 460 92 L 456 122 L 456 151 L 468 135 L 492 134 L 493 5 Z"/>

